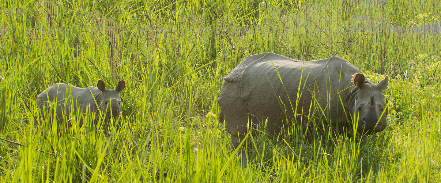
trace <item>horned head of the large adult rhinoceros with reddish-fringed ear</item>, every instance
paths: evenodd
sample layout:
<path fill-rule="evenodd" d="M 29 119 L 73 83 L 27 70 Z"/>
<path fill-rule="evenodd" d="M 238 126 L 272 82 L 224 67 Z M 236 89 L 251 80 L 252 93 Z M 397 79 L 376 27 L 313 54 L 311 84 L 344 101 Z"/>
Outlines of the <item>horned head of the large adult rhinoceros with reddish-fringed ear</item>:
<path fill-rule="evenodd" d="M 389 78 L 385 77 L 377 85 L 370 82 L 365 83 L 365 76 L 362 73 L 352 75 L 355 88 L 348 94 L 345 108 L 352 119 L 352 124 L 357 125 L 357 132 L 374 134 L 381 132 L 387 126 L 388 101 L 381 93 L 387 88 Z M 357 121 L 358 120 L 358 121 Z"/>

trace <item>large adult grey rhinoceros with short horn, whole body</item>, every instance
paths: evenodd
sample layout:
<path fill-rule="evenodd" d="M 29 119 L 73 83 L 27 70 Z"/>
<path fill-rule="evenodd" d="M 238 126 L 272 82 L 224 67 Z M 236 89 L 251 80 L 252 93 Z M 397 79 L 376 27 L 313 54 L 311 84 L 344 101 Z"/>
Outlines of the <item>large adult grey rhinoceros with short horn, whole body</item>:
<path fill-rule="evenodd" d="M 331 128 L 334 134 L 348 134 L 352 126 L 359 133 L 373 134 L 387 125 L 387 101 L 381 90 L 386 89 L 388 77 L 374 85 L 340 57 L 299 61 L 273 53 L 255 54 L 224 80 L 217 98 L 219 122 L 225 121 L 235 148 L 249 121 L 263 125 L 266 118 L 266 130 L 272 136 L 286 126 L 311 133 L 314 123 L 323 130 Z M 310 114 L 310 108 L 317 112 Z"/>

